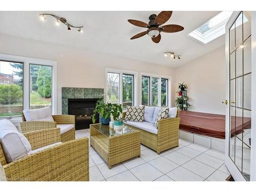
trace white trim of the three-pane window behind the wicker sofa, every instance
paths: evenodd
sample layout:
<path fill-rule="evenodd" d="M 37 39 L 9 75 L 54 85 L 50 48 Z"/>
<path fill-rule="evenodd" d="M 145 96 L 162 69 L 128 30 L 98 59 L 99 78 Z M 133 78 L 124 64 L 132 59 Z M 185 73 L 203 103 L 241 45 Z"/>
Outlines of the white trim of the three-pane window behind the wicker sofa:
<path fill-rule="evenodd" d="M 151 78 L 152 77 L 156 77 L 156 78 L 159 78 L 159 86 L 158 86 L 158 106 L 161 106 L 161 79 L 168 79 L 168 86 L 167 86 L 167 99 L 168 99 L 168 102 L 167 102 L 167 104 L 168 104 L 168 106 L 169 107 L 171 107 L 172 106 L 172 77 L 168 77 L 168 76 L 163 76 L 163 75 L 156 75 L 156 74 L 150 74 L 150 73 L 140 73 L 140 92 L 141 92 L 141 90 L 142 90 L 142 81 L 141 81 L 141 79 L 142 79 L 142 76 L 146 76 L 146 77 L 150 77 L 150 88 L 151 88 L 151 86 L 152 86 L 152 84 L 151 84 Z M 149 89 L 150 89 L 149 88 Z M 152 104 L 152 91 L 151 91 L 151 89 L 150 89 L 150 104 L 149 105 L 151 105 Z M 142 100 L 140 99 L 140 101 L 139 101 L 139 103 L 140 104 L 142 104 Z"/>

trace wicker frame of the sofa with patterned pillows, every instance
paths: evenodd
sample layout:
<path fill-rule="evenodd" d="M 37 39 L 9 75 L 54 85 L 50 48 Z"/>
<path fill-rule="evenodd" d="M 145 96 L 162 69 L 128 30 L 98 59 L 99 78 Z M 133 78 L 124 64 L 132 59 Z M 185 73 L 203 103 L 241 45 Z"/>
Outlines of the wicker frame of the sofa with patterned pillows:
<path fill-rule="evenodd" d="M 126 112 L 123 112 L 123 117 L 125 117 L 125 114 Z M 179 146 L 179 110 L 177 111 L 176 117 L 162 119 L 158 122 L 157 134 L 138 129 L 136 126 L 129 124 L 125 124 L 125 126 L 129 126 L 134 130 L 140 131 L 141 144 L 152 148 L 158 155 L 162 151 Z"/>

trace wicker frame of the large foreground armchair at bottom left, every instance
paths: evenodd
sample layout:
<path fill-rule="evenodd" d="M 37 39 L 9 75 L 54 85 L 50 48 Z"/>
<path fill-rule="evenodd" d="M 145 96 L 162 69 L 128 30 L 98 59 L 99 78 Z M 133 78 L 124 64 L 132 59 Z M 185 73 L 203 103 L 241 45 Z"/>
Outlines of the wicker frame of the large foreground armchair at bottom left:
<path fill-rule="evenodd" d="M 25 133 L 32 150 L 60 141 L 60 129 Z M 2 181 L 89 181 L 89 139 L 55 145 L 6 163 L 0 145 Z"/>

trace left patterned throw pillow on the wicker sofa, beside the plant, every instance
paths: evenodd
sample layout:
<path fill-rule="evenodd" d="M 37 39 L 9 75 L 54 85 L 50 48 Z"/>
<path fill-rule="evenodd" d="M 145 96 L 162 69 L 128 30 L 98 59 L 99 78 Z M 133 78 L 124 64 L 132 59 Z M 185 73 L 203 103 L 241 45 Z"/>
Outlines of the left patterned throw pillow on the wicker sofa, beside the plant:
<path fill-rule="evenodd" d="M 125 120 L 143 122 L 144 108 L 145 106 L 127 106 Z"/>

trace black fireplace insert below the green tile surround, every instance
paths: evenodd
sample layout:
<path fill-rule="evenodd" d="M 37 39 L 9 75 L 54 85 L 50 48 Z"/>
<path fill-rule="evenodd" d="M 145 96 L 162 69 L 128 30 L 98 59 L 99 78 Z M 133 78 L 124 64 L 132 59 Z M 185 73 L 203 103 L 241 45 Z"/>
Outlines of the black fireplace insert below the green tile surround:
<path fill-rule="evenodd" d="M 98 99 L 68 99 L 68 114 L 76 116 L 76 130 L 88 129 L 92 124 L 93 111 Z M 95 116 L 99 122 L 99 115 Z"/>

